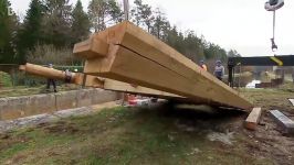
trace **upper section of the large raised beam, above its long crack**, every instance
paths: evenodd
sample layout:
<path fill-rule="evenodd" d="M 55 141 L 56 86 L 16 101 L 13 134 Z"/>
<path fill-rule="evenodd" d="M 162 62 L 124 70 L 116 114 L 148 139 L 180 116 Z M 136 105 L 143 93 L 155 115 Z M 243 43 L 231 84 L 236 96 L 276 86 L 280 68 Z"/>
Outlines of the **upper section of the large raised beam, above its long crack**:
<path fill-rule="evenodd" d="M 225 88 L 227 90 L 238 95 L 235 90 L 232 90 L 229 86 L 217 79 L 208 72 L 203 72 L 203 69 L 182 54 L 178 53 L 175 48 L 168 46 L 160 40 L 130 22 L 123 22 L 109 28 L 107 31 L 108 44 L 122 45 L 195 81 L 197 81 L 197 77 L 201 75 L 202 77 L 206 77 L 209 82 L 218 82 L 221 88 Z M 98 34 L 96 34 L 96 37 L 99 37 Z M 105 36 L 101 38 L 105 38 Z"/>

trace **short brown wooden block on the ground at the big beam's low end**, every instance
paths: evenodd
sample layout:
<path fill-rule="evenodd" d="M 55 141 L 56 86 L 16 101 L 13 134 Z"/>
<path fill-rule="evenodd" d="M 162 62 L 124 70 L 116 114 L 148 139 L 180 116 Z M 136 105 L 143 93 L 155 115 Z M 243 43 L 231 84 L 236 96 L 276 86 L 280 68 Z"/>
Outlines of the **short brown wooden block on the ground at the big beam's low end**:
<path fill-rule="evenodd" d="M 256 130 L 258 124 L 260 122 L 261 113 L 261 108 L 253 108 L 245 120 L 244 127 L 249 130 Z"/>

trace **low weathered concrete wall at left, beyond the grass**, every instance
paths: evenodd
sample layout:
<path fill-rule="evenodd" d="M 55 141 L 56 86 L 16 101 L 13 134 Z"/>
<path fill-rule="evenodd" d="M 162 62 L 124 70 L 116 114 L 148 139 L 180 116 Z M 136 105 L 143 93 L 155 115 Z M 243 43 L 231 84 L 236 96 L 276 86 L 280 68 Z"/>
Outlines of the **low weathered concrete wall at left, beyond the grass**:
<path fill-rule="evenodd" d="M 117 92 L 95 88 L 57 94 L 0 98 L 0 120 L 87 107 L 120 98 L 120 95 Z"/>

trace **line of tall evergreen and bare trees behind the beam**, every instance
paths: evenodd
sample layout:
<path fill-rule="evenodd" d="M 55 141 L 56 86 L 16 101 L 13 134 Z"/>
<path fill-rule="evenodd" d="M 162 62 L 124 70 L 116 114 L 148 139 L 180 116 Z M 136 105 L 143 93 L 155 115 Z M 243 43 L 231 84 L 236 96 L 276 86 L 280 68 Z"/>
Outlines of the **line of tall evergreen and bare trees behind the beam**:
<path fill-rule="evenodd" d="M 91 0 L 87 12 L 81 0 L 75 4 L 70 0 L 31 0 L 23 19 L 12 11 L 9 0 L 0 0 L 0 64 L 81 63 L 71 57 L 73 45 L 124 20 L 122 3 L 116 0 Z M 193 31 L 181 32 L 159 8 L 143 0 L 134 1 L 130 21 L 196 63 L 240 56 Z"/>

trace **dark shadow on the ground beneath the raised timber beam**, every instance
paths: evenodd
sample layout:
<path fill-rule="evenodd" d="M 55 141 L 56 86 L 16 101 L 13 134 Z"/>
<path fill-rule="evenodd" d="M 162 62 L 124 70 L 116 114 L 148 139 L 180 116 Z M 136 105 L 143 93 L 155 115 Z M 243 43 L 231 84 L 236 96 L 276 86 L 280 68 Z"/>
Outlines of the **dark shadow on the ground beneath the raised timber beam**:
<path fill-rule="evenodd" d="M 198 131 L 234 131 L 242 127 L 246 112 L 232 109 L 220 109 L 204 105 L 179 105 L 166 102 L 151 108 L 135 108 L 134 118 L 156 118 L 158 122 L 174 123 L 180 128 L 189 127 Z"/>

